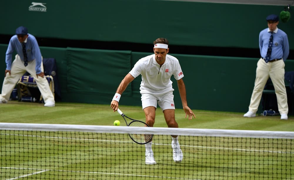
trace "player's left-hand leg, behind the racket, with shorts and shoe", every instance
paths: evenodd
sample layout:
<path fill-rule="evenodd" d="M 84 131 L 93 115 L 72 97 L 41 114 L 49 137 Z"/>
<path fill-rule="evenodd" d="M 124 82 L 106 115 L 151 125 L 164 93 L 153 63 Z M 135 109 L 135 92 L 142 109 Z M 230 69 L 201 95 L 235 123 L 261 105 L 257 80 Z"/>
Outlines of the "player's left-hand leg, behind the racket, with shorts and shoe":
<path fill-rule="evenodd" d="M 146 124 L 153 127 L 155 122 L 155 110 L 157 107 L 157 99 L 151 94 L 142 93 L 142 108 L 146 117 Z M 152 150 L 152 139 L 145 144 L 145 164 L 156 164 Z"/>

